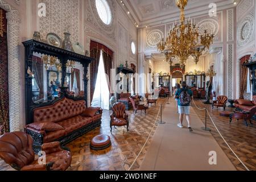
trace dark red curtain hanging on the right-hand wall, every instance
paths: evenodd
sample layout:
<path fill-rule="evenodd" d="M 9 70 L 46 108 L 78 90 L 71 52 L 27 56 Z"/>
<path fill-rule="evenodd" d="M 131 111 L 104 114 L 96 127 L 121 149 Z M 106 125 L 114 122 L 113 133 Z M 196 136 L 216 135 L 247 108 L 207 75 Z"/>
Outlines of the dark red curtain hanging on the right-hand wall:
<path fill-rule="evenodd" d="M 250 59 L 250 55 L 247 55 L 245 57 L 242 57 L 240 59 L 240 99 L 243 99 L 243 94 L 245 93 L 245 90 L 247 88 L 247 74 L 248 69 L 247 67 L 244 67 L 243 64 L 245 64 Z"/>

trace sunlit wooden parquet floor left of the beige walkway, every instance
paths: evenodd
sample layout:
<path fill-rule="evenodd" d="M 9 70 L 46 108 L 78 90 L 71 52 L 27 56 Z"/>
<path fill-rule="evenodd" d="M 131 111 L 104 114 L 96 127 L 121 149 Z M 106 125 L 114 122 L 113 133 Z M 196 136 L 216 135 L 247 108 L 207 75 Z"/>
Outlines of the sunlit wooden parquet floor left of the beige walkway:
<path fill-rule="evenodd" d="M 138 111 L 137 114 L 134 114 L 133 111 L 127 111 L 130 122 L 129 133 L 127 133 L 125 127 L 117 127 L 116 129 L 113 127 L 113 134 L 111 134 L 109 122 L 112 111 L 104 110 L 101 127 L 67 144 L 67 147 L 72 152 L 72 164 L 68 171 L 128 170 L 153 129 L 146 147 L 144 147 L 141 155 L 139 155 L 134 166 L 131 168 L 131 170 L 138 170 L 150 146 L 154 131 L 158 126 L 157 124 L 155 125 L 155 121 L 159 113 L 159 105 L 163 104 L 164 109 L 165 102 L 165 99 L 160 98 L 156 106 L 152 105 L 149 107 L 146 114 L 144 114 L 144 111 L 142 113 Z M 159 118 L 160 115 L 157 119 Z M 112 140 L 112 146 L 102 151 L 90 150 L 90 140 L 98 134 L 109 135 Z M 0 159 L 0 171 L 6 170 L 13 169 Z"/>

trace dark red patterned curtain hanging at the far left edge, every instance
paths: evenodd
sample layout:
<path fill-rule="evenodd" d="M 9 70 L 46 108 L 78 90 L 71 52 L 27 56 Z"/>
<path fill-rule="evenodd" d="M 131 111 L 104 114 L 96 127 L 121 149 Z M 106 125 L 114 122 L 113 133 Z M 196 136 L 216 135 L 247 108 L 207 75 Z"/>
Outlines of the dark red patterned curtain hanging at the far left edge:
<path fill-rule="evenodd" d="M 0 9 L 0 135 L 10 131 L 6 11 Z"/>

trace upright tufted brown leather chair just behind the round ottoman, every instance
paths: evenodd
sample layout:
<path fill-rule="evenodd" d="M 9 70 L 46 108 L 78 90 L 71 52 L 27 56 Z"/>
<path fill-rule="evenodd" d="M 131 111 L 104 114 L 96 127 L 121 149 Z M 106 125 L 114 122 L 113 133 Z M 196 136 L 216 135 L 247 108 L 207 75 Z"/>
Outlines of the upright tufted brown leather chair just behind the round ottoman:
<path fill-rule="evenodd" d="M 112 107 L 113 113 L 110 115 L 110 131 L 112 133 L 112 126 L 127 126 L 129 131 L 128 115 L 125 112 L 125 104 L 117 102 Z"/>

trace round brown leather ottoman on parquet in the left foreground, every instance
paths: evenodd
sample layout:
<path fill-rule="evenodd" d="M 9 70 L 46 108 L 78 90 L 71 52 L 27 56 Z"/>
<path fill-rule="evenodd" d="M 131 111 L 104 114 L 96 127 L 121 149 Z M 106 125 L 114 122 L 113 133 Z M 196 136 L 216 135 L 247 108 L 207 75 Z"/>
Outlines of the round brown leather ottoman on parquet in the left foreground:
<path fill-rule="evenodd" d="M 93 150 L 104 150 L 111 146 L 111 140 L 108 135 L 97 135 L 90 142 L 90 148 Z"/>

